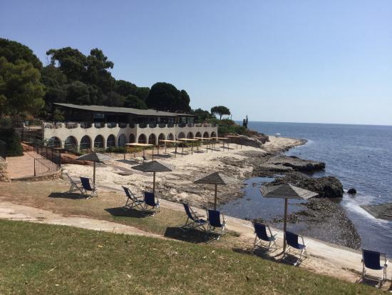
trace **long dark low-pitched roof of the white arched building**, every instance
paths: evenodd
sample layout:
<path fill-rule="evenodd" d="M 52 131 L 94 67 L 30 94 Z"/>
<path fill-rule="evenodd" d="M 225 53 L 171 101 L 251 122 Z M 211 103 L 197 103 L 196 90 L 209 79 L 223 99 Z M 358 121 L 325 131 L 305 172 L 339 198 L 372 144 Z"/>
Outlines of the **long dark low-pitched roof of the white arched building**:
<path fill-rule="evenodd" d="M 194 116 L 191 114 L 178 114 L 170 113 L 168 111 L 156 111 L 155 109 L 133 109 L 133 108 L 121 108 L 118 106 L 82 106 L 78 104 L 58 104 L 71 109 L 81 109 L 84 111 L 101 111 L 110 113 L 123 113 L 123 114 L 134 114 L 139 116 Z"/>

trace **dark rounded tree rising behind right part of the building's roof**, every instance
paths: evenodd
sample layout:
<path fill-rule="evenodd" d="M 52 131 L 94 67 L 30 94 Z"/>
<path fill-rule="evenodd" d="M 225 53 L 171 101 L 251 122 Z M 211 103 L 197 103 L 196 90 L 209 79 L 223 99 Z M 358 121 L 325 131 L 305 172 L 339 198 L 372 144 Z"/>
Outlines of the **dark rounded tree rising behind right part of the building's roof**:
<path fill-rule="evenodd" d="M 149 108 L 159 111 L 190 111 L 189 96 L 174 85 L 158 82 L 151 86 L 145 103 Z"/>

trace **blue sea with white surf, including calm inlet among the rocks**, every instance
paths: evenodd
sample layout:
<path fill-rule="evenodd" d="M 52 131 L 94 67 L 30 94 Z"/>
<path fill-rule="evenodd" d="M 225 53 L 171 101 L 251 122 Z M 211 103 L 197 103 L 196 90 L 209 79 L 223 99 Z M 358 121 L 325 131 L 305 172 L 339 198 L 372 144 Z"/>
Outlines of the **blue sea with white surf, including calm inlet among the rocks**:
<path fill-rule="evenodd" d="M 336 176 L 341 181 L 345 194 L 339 204 L 359 232 L 361 247 L 392 257 L 392 221 L 376 219 L 360 207 L 392 202 L 392 126 L 251 121 L 248 128 L 269 135 L 306 139 L 304 146 L 290 149 L 286 154 L 324 161 L 326 169 L 312 176 Z M 268 220 L 278 211 L 282 214 L 282 200 L 264 199 L 259 193 L 259 186 L 269 181 L 272 179 L 248 179 L 244 198 L 220 209 L 247 219 Z M 346 194 L 350 188 L 355 188 L 357 194 Z M 295 206 L 298 201 L 290 202 L 290 211 L 299 210 Z"/>

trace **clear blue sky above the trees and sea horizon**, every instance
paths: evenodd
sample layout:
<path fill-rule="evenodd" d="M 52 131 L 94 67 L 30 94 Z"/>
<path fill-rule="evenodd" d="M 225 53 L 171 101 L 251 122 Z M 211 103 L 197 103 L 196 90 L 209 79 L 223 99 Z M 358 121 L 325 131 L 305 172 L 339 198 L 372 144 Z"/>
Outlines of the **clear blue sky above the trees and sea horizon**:
<path fill-rule="evenodd" d="M 392 1 L 9 1 L 0 36 L 98 47 L 113 76 L 166 81 L 233 119 L 392 125 Z"/>

